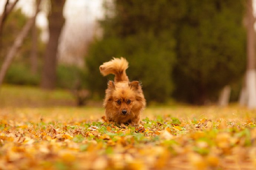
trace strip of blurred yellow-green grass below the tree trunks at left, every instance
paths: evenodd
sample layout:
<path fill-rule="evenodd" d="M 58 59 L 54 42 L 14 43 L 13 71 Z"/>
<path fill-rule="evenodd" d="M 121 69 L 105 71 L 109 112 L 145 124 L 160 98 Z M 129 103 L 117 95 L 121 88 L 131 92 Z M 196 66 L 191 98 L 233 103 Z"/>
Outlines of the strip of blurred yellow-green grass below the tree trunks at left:
<path fill-rule="evenodd" d="M 35 86 L 3 85 L 0 107 L 75 106 L 75 98 L 68 90 L 42 90 Z"/>

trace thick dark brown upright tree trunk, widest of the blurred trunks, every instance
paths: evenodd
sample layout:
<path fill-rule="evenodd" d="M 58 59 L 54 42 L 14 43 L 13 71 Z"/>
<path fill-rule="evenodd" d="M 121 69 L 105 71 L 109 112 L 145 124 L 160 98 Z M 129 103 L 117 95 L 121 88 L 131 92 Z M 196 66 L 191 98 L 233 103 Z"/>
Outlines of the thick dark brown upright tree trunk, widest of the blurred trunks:
<path fill-rule="evenodd" d="M 59 37 L 64 25 L 63 6 L 65 0 L 51 0 L 49 21 L 49 41 L 46 47 L 43 63 L 41 86 L 44 89 L 53 89 L 56 85 L 56 66 Z"/>

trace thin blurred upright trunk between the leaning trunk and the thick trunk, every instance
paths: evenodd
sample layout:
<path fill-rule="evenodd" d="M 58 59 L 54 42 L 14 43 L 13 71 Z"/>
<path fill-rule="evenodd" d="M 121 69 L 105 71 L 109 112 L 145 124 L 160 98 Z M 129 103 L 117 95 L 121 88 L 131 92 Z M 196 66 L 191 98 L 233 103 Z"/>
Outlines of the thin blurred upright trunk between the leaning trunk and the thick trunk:
<path fill-rule="evenodd" d="M 30 51 L 30 67 L 32 74 L 36 74 L 37 72 L 37 46 L 37 28 L 35 22 L 32 27 L 32 47 Z"/>

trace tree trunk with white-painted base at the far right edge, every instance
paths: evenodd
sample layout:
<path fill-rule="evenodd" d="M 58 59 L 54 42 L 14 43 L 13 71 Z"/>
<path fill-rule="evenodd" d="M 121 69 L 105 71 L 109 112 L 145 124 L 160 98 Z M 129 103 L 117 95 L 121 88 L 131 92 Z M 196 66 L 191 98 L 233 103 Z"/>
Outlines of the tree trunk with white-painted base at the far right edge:
<path fill-rule="evenodd" d="M 256 108 L 256 67 L 255 67 L 255 17 L 253 16 L 252 0 L 247 0 L 247 68 L 246 90 L 248 108 Z"/>

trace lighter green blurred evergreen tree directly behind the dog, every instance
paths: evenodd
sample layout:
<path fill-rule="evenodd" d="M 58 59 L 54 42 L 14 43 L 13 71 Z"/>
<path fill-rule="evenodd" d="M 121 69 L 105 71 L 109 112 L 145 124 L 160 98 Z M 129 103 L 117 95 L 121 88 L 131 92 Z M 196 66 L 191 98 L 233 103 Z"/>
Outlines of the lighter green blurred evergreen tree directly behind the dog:
<path fill-rule="evenodd" d="M 129 62 L 129 79 L 142 82 L 147 101 L 164 102 L 173 86 L 174 23 L 183 16 L 184 3 L 115 0 L 114 13 L 112 8 L 106 10 L 108 15 L 101 22 L 103 38 L 92 44 L 86 58 L 92 92 L 103 96 L 109 78 L 100 75 L 99 65 L 122 56 Z"/>

